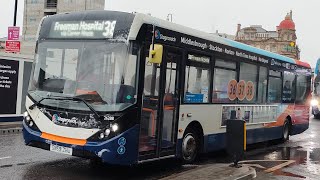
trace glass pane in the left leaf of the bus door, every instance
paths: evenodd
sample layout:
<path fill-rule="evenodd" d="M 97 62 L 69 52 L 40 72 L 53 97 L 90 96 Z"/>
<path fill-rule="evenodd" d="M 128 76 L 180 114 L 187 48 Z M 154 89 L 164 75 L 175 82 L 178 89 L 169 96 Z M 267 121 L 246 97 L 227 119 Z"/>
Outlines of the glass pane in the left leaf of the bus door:
<path fill-rule="evenodd" d="M 146 60 L 139 152 L 156 150 L 159 79 L 160 66 L 158 64 L 149 64 L 148 60 Z"/>

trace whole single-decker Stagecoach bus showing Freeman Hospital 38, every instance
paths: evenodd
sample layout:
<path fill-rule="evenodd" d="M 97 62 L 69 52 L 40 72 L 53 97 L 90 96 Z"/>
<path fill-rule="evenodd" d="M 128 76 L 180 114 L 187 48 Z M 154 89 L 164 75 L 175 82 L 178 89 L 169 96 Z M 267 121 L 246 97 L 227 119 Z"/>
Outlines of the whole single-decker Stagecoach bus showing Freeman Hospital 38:
<path fill-rule="evenodd" d="M 88 11 L 40 24 L 24 118 L 29 146 L 129 165 L 309 126 L 310 66 L 144 14 Z"/>

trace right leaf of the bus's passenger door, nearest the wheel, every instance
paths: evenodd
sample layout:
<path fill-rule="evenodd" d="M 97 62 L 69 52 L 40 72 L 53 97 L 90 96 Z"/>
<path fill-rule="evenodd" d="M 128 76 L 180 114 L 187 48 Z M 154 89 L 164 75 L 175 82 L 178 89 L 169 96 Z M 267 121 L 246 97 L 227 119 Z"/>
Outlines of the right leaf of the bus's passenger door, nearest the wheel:
<path fill-rule="evenodd" d="M 164 53 L 163 72 L 162 76 L 162 114 L 160 131 L 161 140 L 159 141 L 159 151 L 161 156 L 175 154 L 176 139 L 177 139 L 177 123 L 178 123 L 178 108 L 179 108 L 179 63 L 181 62 L 182 54 L 174 49 L 166 49 Z"/>

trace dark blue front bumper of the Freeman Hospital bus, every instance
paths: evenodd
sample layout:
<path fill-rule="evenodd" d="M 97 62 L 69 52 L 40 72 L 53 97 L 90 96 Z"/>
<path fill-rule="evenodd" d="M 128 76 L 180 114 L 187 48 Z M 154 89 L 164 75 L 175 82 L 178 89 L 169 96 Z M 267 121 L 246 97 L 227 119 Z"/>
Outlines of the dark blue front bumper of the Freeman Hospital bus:
<path fill-rule="evenodd" d="M 131 165 L 138 162 L 139 125 L 103 142 L 87 142 L 85 145 L 65 144 L 41 137 L 41 132 L 30 129 L 23 121 L 23 137 L 28 146 L 50 150 L 50 145 L 72 148 L 72 156 L 99 158 L 102 162 L 116 165 Z M 121 142 L 119 139 L 121 138 Z M 125 141 L 123 141 L 125 139 Z"/>

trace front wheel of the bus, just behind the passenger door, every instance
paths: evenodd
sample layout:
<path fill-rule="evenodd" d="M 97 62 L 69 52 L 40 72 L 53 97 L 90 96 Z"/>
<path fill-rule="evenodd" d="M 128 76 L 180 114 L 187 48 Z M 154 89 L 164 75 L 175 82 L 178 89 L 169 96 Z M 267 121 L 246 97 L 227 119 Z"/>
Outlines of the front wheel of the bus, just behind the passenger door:
<path fill-rule="evenodd" d="M 187 128 L 182 139 L 181 158 L 184 164 L 193 163 L 200 152 L 199 134 L 192 128 Z"/>

